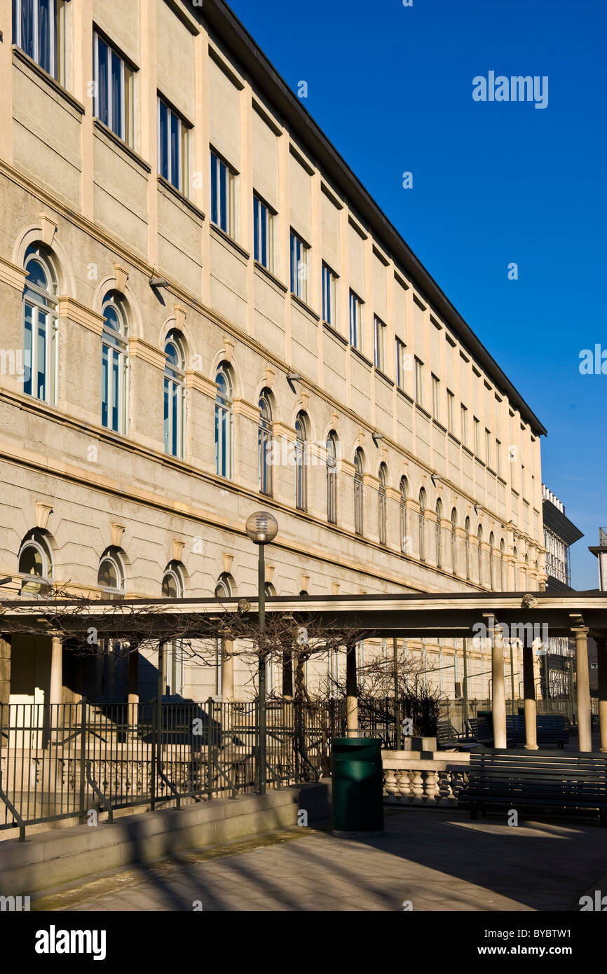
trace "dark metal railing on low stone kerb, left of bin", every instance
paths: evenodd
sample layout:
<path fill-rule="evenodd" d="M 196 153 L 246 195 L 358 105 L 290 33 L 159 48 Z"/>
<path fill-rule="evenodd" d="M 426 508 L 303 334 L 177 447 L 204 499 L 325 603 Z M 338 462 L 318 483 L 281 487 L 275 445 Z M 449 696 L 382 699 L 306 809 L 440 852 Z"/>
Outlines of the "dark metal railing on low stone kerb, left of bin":
<path fill-rule="evenodd" d="M 328 770 L 326 709 L 267 705 L 267 784 Z M 0 830 L 259 790 L 256 701 L 0 704 Z"/>

